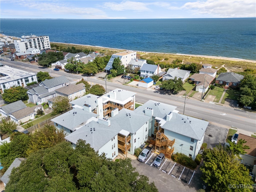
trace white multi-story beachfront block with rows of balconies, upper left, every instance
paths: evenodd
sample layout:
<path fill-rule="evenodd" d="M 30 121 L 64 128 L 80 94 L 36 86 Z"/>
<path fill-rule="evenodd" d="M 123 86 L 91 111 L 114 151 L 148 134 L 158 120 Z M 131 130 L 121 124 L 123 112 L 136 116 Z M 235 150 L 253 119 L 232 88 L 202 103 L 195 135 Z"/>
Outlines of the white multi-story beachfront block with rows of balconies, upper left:
<path fill-rule="evenodd" d="M 36 48 L 39 50 L 51 48 L 49 36 L 22 36 L 20 40 L 14 40 L 14 45 L 18 52 L 24 52 L 28 48 Z"/>

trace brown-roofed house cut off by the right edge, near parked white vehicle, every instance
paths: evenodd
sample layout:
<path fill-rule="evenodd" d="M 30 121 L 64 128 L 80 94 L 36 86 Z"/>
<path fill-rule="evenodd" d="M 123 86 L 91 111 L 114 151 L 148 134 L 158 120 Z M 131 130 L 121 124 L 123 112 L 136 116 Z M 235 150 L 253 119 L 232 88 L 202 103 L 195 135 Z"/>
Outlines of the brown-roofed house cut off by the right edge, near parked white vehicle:
<path fill-rule="evenodd" d="M 244 145 L 250 147 L 250 149 L 246 149 L 246 154 L 239 156 L 242 158 L 241 163 L 248 166 L 249 169 L 252 170 L 254 176 L 256 175 L 256 138 L 244 135 L 242 133 L 238 134 L 237 140 L 243 139 L 246 141 Z"/>

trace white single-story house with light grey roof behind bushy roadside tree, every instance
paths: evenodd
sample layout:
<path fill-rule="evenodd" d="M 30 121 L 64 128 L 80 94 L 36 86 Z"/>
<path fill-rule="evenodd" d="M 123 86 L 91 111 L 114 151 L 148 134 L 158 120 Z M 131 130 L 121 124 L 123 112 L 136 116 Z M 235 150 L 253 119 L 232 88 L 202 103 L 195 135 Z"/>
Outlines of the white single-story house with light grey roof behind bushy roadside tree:
<path fill-rule="evenodd" d="M 174 69 L 169 68 L 166 74 L 163 76 L 163 81 L 177 77 L 178 79 L 180 78 L 182 82 L 184 82 L 187 78 L 189 78 L 189 75 L 190 71 L 179 69 L 179 67 Z"/>

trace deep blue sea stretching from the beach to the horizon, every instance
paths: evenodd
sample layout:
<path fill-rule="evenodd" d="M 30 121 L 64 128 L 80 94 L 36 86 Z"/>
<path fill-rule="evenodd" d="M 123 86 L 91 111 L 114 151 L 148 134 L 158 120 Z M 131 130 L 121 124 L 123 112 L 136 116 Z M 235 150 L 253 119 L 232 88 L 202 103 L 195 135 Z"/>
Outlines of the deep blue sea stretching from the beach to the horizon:
<path fill-rule="evenodd" d="M 129 50 L 256 60 L 256 18 L 1 19 L 5 35 Z"/>

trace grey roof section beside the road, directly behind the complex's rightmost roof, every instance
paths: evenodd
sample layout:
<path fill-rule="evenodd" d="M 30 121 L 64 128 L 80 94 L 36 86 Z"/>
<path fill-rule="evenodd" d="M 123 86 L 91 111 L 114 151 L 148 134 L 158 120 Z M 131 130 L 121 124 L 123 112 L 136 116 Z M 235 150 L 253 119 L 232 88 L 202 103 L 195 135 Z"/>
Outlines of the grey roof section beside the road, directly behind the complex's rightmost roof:
<path fill-rule="evenodd" d="M 145 104 L 139 106 L 134 110 L 137 114 L 145 114 L 145 108 L 152 108 L 153 109 L 153 116 L 159 117 L 162 119 L 166 119 L 166 115 L 168 115 L 169 112 L 172 112 L 177 107 L 173 105 L 168 105 L 165 103 L 160 103 L 158 101 L 148 100 Z"/>

